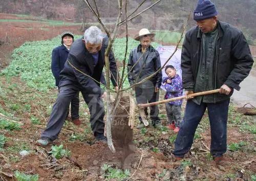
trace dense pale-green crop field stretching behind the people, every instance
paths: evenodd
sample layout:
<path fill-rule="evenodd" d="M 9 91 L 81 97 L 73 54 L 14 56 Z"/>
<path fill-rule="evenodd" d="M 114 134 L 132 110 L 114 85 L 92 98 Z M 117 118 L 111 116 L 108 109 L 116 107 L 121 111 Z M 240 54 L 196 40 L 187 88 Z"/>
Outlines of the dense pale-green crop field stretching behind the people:
<path fill-rule="evenodd" d="M 56 24 L 58 21 L 52 22 Z M 80 36 L 76 35 L 75 39 L 78 38 Z M 59 40 L 60 37 L 57 36 L 51 40 L 25 42 L 13 51 L 12 62 L 0 75 L 5 75 L 7 79 L 20 76 L 21 80 L 25 81 L 29 87 L 40 92 L 48 92 L 49 89 L 55 87 L 55 80 L 51 72 L 51 54 L 54 48 L 60 46 Z M 114 43 L 113 51 L 115 58 L 119 61 L 124 58 L 125 42 L 125 38 L 116 38 Z M 136 48 L 138 44 L 138 41 L 129 38 L 126 60 L 128 60 L 131 50 Z M 152 43 L 155 48 L 158 45 L 158 43 Z M 119 70 L 121 71 L 121 67 Z M 125 79 L 124 87 L 128 86 L 129 82 Z M 15 85 L 10 86 L 10 89 L 15 89 Z"/>

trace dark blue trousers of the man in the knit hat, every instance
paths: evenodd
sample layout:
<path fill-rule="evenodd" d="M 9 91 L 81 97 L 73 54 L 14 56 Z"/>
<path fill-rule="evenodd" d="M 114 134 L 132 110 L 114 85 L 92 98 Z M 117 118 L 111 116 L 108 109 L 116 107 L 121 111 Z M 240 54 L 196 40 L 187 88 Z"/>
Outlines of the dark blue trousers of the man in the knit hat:
<path fill-rule="evenodd" d="M 198 105 L 188 100 L 180 131 L 175 141 L 174 155 L 183 157 L 193 144 L 194 135 L 207 108 L 210 121 L 210 153 L 218 157 L 227 151 L 227 117 L 229 99 L 218 103 L 201 103 Z"/>

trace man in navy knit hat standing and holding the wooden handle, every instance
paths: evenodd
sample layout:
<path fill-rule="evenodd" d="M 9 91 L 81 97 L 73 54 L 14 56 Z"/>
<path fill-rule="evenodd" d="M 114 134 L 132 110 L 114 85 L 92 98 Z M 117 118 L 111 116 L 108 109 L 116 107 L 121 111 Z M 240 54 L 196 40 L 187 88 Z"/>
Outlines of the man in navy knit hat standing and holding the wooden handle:
<path fill-rule="evenodd" d="M 227 117 L 233 89 L 251 70 L 253 59 L 241 31 L 217 19 L 215 5 L 199 0 L 194 12 L 197 27 L 186 33 L 182 47 L 181 68 L 187 101 L 183 123 L 178 133 L 174 155 L 181 160 L 193 143 L 196 128 L 208 110 L 210 153 L 217 164 L 227 149 Z M 190 94 L 217 89 L 213 95 L 191 97 Z"/>

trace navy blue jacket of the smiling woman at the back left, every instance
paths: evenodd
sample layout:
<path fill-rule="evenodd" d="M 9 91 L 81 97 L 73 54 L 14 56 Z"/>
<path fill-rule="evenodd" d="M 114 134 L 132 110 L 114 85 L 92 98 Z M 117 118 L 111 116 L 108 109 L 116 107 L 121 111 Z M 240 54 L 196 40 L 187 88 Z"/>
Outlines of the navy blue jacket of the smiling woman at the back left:
<path fill-rule="evenodd" d="M 63 44 L 59 47 L 56 47 L 52 51 L 52 64 L 51 64 L 51 69 L 52 69 L 52 74 L 55 78 L 55 85 L 59 85 L 59 73 L 62 71 L 64 64 L 68 58 L 69 51 L 68 49 L 63 46 Z"/>

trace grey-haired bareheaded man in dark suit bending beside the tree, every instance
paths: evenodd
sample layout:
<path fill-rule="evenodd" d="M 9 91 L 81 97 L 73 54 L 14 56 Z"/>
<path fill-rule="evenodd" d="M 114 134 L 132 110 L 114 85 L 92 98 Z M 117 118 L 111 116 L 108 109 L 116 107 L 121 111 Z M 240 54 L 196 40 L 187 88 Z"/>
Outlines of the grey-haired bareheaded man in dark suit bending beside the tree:
<path fill-rule="evenodd" d="M 104 53 L 108 46 L 108 38 L 104 38 L 97 27 L 90 27 L 84 37 L 72 44 L 68 59 L 60 72 L 59 94 L 53 105 L 46 129 L 41 133 L 37 145 L 47 146 L 57 139 L 66 118 L 71 99 L 80 91 L 90 110 L 91 128 L 96 140 L 106 141 L 104 137 L 104 105 L 102 98 L 106 96 L 99 83 L 104 66 Z M 117 67 L 113 53 L 109 54 L 110 71 L 113 85 L 117 89 Z M 86 76 L 91 76 L 92 78 Z"/>

